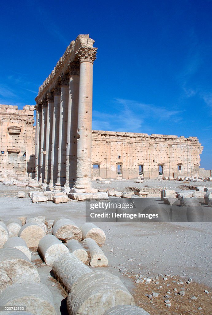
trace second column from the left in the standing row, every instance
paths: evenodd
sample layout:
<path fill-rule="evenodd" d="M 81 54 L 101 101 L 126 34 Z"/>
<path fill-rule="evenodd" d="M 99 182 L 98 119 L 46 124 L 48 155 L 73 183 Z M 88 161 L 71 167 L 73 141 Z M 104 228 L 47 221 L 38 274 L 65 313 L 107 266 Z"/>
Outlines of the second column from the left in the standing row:
<path fill-rule="evenodd" d="M 43 182 L 45 177 L 45 146 L 46 146 L 46 116 L 47 116 L 47 100 L 44 99 L 41 101 L 42 105 L 42 120 L 41 120 L 41 173 L 39 182 Z"/>

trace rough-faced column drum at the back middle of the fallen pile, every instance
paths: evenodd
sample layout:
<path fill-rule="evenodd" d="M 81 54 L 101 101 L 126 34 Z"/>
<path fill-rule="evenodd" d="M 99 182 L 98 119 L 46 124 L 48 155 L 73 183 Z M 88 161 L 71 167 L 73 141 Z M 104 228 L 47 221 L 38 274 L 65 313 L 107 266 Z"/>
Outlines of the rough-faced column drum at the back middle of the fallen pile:
<path fill-rule="evenodd" d="M 52 235 L 55 235 L 61 241 L 67 242 L 69 239 L 82 240 L 82 232 L 76 224 L 69 219 L 60 219 L 54 222 Z"/>

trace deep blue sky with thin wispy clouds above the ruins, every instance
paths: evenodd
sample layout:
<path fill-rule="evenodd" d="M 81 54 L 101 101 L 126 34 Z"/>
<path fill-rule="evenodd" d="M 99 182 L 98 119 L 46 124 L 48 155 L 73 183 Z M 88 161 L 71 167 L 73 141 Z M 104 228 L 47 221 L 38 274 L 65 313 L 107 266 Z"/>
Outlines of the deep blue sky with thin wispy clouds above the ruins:
<path fill-rule="evenodd" d="M 98 47 L 93 129 L 197 136 L 212 169 L 212 1 L 1 4 L 0 103 L 34 105 L 78 34 Z"/>

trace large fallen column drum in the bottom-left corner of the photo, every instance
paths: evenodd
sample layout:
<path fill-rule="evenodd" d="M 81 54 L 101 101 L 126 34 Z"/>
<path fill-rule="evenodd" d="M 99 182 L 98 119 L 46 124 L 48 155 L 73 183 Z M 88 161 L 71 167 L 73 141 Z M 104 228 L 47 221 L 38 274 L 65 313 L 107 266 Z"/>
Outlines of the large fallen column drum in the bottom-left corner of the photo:
<path fill-rule="evenodd" d="M 45 284 L 33 281 L 8 287 L 0 296 L 0 304 L 26 306 L 27 311 L 34 315 L 57 315 L 50 290 Z M 5 313 L 11 312 L 0 312 L 0 315 Z"/>

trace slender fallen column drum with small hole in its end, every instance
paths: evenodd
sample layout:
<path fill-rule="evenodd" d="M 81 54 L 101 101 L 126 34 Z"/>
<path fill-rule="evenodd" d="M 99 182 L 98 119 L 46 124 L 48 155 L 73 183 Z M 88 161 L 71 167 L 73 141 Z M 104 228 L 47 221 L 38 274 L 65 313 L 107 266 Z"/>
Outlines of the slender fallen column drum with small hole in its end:
<path fill-rule="evenodd" d="M 82 244 L 88 252 L 91 267 L 106 267 L 108 259 L 92 238 L 85 238 Z"/>

